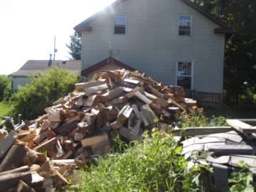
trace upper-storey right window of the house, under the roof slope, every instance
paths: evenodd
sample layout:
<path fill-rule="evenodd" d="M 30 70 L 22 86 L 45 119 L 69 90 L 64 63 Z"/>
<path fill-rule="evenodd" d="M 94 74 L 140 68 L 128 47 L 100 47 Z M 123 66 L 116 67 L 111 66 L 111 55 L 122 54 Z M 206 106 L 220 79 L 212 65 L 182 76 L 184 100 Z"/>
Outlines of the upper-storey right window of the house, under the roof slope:
<path fill-rule="evenodd" d="M 191 16 L 179 16 L 178 35 L 191 36 Z"/>

